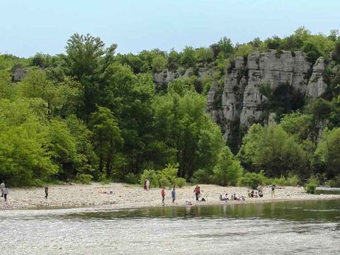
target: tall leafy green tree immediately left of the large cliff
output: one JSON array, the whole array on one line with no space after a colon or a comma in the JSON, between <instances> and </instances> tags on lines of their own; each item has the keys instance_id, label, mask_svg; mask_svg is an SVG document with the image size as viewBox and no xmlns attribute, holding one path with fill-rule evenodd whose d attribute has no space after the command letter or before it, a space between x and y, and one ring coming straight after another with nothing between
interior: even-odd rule
<instances>
[{"instance_id":1,"label":"tall leafy green tree immediately left of the large cliff","mask_svg":"<svg viewBox=\"0 0 340 255\"><path fill-rule=\"evenodd\" d=\"M171 84L168 94L154 102L154 130L157 130L154 138L164 141L162 148L168 152L165 163L178 162L179 176L191 179L198 169L215 165L222 136L220 128L205 114L205 98L188 89L193 84L187 86L186 82L179 80Z\"/></svg>"}]
</instances>

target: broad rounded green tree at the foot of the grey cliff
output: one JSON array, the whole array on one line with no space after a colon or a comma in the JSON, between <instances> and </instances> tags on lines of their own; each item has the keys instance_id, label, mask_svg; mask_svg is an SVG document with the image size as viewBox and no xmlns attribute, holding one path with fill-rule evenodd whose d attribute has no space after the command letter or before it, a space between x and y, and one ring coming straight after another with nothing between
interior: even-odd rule
<instances>
[{"instance_id":1,"label":"broad rounded green tree at the foot of the grey cliff","mask_svg":"<svg viewBox=\"0 0 340 255\"><path fill-rule=\"evenodd\" d=\"M280 125L263 128L254 124L244 136L238 157L255 171L264 169L269 177L293 172L307 174L307 157L293 135Z\"/></svg>"}]
</instances>

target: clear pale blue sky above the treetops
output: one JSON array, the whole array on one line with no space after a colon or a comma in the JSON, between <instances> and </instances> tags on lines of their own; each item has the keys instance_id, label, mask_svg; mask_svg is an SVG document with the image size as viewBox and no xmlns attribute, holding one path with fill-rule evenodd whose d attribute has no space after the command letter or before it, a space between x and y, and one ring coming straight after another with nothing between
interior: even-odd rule
<instances>
[{"instance_id":1,"label":"clear pale blue sky above the treetops","mask_svg":"<svg viewBox=\"0 0 340 255\"><path fill-rule=\"evenodd\" d=\"M98 35L118 52L248 42L340 29L339 0L0 0L0 52L64 52L73 33Z\"/></svg>"}]
</instances>

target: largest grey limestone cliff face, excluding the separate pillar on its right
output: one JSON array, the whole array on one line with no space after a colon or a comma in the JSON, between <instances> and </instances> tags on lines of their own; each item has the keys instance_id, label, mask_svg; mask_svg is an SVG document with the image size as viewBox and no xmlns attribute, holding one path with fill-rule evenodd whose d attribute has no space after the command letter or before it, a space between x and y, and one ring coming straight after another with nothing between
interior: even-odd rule
<instances>
[{"instance_id":1,"label":"largest grey limestone cliff face, excluding the separate pillar on its right","mask_svg":"<svg viewBox=\"0 0 340 255\"><path fill-rule=\"evenodd\" d=\"M309 76L310 63L302 52L278 53L273 50L237 57L225 77L222 108L212 107L211 98L220 93L212 87L208 95L208 112L215 120L222 120L223 137L230 140L240 127L248 128L251 123L261 120L266 101L266 96L261 94L263 85L270 86L273 91L281 84L288 84L305 94Z\"/></svg>"}]
</instances>

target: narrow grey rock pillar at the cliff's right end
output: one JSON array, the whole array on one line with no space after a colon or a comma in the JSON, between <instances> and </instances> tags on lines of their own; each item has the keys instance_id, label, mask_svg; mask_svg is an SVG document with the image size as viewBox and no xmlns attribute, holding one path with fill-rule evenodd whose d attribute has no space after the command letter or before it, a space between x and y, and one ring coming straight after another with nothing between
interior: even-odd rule
<instances>
[{"instance_id":1,"label":"narrow grey rock pillar at the cliff's right end","mask_svg":"<svg viewBox=\"0 0 340 255\"><path fill-rule=\"evenodd\" d=\"M324 74L324 58L319 57L313 66L312 76L307 85L307 97L317 98L327 90L322 74Z\"/></svg>"}]
</instances>

